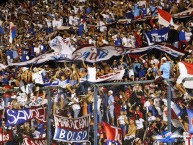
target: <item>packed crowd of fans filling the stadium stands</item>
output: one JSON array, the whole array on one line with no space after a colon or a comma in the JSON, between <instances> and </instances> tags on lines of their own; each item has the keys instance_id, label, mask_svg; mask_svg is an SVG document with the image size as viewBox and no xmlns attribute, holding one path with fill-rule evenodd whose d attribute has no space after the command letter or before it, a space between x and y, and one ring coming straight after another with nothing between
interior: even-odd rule
<instances>
[{"instance_id":1,"label":"packed crowd of fans filling the stadium stands","mask_svg":"<svg viewBox=\"0 0 193 145\"><path fill-rule=\"evenodd\" d=\"M0 63L8 67L0 70L0 125L4 130L14 131L14 140L7 144L19 144L22 135L32 138L46 136L46 123L33 119L25 124L6 127L4 109L23 109L48 103L48 94L41 88L57 83L60 88L52 90L52 113L66 117L91 116L90 142L93 144L94 90L87 81L88 65L82 61L45 62L12 66L51 52L49 41L55 36L68 38L74 48L83 44L104 44L141 48L148 46L144 33L163 28L157 21L157 9L176 14L193 7L191 0L8 0L0 5ZM149 16L149 17L148 17ZM144 20L145 17L148 17ZM179 25L170 26L167 44L184 52L174 58L166 53L148 52L139 57L122 55L97 62L97 76L125 69L122 82L155 80L146 84L113 85L98 88L98 143L106 140L102 122L122 128L122 140L112 144L153 144L154 136L168 129L167 82L173 78L172 101L182 110L179 117L188 130L186 108L191 106L192 90L184 89L178 77L179 61L193 63L193 21L188 18L174 19ZM121 21L120 19L131 20ZM16 38L9 41L10 22L16 29ZM68 26L67 30L60 30ZM52 122L54 124L54 120ZM54 126L53 126L54 128ZM175 128L175 127L173 127ZM53 133L52 133L53 135ZM59 141L53 141L65 144ZM182 143L178 141L178 144ZM77 144L78 143L71 143Z\"/></svg>"}]
</instances>

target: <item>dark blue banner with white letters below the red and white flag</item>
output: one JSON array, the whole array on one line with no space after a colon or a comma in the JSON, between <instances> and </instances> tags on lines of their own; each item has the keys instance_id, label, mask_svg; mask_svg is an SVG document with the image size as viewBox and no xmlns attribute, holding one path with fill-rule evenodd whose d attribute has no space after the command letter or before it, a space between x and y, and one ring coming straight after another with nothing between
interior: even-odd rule
<instances>
[{"instance_id":1,"label":"dark blue banner with white letters below the red and white flag","mask_svg":"<svg viewBox=\"0 0 193 145\"><path fill-rule=\"evenodd\" d=\"M148 45L155 43L165 42L168 39L169 27L165 27L159 30L152 30L145 34Z\"/></svg>"}]
</instances>

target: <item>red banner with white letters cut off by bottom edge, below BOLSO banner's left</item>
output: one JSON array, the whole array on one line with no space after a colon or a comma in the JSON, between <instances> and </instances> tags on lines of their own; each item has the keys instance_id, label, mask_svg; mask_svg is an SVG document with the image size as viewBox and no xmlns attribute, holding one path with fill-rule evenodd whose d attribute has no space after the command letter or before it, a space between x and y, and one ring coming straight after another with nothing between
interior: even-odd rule
<instances>
[{"instance_id":1,"label":"red banner with white letters cut off by bottom edge, below BOLSO banner's left","mask_svg":"<svg viewBox=\"0 0 193 145\"><path fill-rule=\"evenodd\" d=\"M38 138L38 139L32 139L32 138L23 138L22 145L47 145L47 139L46 138Z\"/></svg>"}]
</instances>

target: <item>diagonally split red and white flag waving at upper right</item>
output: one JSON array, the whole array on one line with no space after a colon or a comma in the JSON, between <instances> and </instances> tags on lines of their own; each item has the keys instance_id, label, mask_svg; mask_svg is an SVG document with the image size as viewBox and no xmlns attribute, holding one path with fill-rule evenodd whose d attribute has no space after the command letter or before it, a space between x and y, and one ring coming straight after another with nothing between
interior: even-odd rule
<instances>
[{"instance_id":1,"label":"diagonally split red and white flag waving at upper right","mask_svg":"<svg viewBox=\"0 0 193 145\"><path fill-rule=\"evenodd\" d=\"M158 8L158 23L168 27L169 25L172 25L175 27L175 29L178 28L177 25L174 24L172 15L162 9Z\"/></svg>"}]
</instances>

